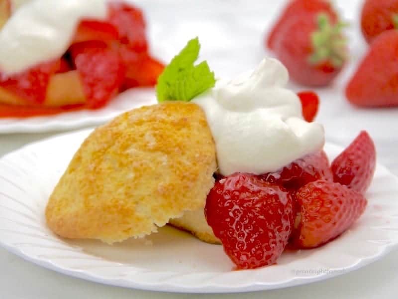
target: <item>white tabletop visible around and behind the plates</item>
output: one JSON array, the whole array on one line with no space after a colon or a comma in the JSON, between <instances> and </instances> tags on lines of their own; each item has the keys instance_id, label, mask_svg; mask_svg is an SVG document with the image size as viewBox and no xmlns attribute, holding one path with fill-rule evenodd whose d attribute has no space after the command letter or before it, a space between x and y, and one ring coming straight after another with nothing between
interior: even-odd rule
<instances>
[{"instance_id":1,"label":"white tabletop visible around and behind the plates","mask_svg":"<svg viewBox=\"0 0 398 299\"><path fill-rule=\"evenodd\" d=\"M141 0L151 24L150 39L168 60L185 42L199 35L202 57L218 76L232 76L255 66L265 52L262 38L285 1L264 0ZM318 90L322 98L318 121L330 142L347 145L360 130L373 136L379 162L398 175L396 134L398 109L360 110L347 104L341 89L366 50L355 19L360 0L335 0L351 22L352 63L333 88ZM295 90L300 89L292 84ZM48 134L0 135L0 156ZM1 186L0 186L1 188ZM70 278L33 264L0 249L0 298L4 299L131 299L131 298L397 298L398 251L353 273L295 288L235 295L186 295L145 292L102 286Z\"/></svg>"}]
</instances>

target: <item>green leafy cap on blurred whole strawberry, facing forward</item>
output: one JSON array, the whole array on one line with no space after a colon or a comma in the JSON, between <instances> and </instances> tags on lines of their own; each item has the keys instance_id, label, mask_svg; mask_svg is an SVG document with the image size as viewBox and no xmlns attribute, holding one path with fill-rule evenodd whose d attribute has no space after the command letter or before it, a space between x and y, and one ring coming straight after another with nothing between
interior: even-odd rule
<instances>
[{"instance_id":1,"label":"green leafy cap on blurred whole strawberry, facing forward","mask_svg":"<svg viewBox=\"0 0 398 299\"><path fill-rule=\"evenodd\" d=\"M311 64L329 61L334 67L341 67L347 60L347 40L342 29L347 24L337 22L331 24L325 13L317 15L317 30L311 34L313 53L309 57Z\"/></svg>"}]
</instances>

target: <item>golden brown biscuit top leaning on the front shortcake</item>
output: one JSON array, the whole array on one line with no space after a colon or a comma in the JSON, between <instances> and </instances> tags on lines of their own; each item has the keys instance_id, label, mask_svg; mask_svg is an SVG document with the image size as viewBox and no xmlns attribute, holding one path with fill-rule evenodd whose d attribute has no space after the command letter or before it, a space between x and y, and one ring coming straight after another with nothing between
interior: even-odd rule
<instances>
[{"instance_id":1,"label":"golden brown biscuit top leaning on the front shortcake","mask_svg":"<svg viewBox=\"0 0 398 299\"><path fill-rule=\"evenodd\" d=\"M196 104L124 113L82 144L50 196L46 220L65 238L142 237L204 207L215 146Z\"/></svg>"}]
</instances>

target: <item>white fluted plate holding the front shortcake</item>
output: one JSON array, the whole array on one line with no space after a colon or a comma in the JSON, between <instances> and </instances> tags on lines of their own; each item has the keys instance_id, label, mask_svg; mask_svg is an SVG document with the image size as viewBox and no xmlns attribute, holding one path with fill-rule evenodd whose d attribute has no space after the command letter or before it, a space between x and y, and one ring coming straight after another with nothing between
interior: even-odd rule
<instances>
[{"instance_id":1,"label":"white fluted plate holding the front shortcake","mask_svg":"<svg viewBox=\"0 0 398 299\"><path fill-rule=\"evenodd\" d=\"M284 288L345 274L398 245L398 178L378 165L363 217L318 249L285 252L278 265L232 271L222 247L170 227L143 240L108 246L68 241L45 225L44 208L58 178L90 131L29 145L0 159L0 243L10 252L66 275L127 288L230 293ZM341 149L328 144L334 157Z\"/></svg>"}]
</instances>

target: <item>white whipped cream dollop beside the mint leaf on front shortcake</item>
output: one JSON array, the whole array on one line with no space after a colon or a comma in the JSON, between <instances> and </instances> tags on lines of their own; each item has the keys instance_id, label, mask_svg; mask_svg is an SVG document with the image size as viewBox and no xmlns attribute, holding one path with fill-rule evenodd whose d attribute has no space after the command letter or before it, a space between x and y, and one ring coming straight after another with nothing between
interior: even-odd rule
<instances>
[{"instance_id":1,"label":"white whipped cream dollop beside the mint leaf on front shortcake","mask_svg":"<svg viewBox=\"0 0 398 299\"><path fill-rule=\"evenodd\" d=\"M205 112L222 175L276 171L322 149L323 126L303 120L288 80L285 66L266 58L253 72L219 80L193 100Z\"/></svg>"}]
</instances>

